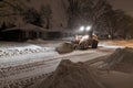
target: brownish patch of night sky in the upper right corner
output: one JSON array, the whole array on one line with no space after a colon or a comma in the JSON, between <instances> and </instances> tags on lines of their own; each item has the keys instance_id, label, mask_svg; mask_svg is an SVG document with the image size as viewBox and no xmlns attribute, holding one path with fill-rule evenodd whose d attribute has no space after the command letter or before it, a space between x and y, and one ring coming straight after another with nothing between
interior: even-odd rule
<instances>
[{"instance_id":1,"label":"brownish patch of night sky in the upper right corner","mask_svg":"<svg viewBox=\"0 0 133 88\"><path fill-rule=\"evenodd\" d=\"M133 16L133 0L110 0L115 9L122 9Z\"/></svg>"}]
</instances>

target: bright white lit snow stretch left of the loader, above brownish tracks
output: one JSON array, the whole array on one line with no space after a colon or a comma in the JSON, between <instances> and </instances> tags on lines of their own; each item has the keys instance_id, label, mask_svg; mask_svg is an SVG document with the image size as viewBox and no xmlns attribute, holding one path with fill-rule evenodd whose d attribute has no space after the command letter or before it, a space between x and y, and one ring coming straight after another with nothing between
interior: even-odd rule
<instances>
[{"instance_id":1,"label":"bright white lit snow stretch left of the loader, above brownish tracks","mask_svg":"<svg viewBox=\"0 0 133 88\"><path fill-rule=\"evenodd\" d=\"M30 43L0 43L0 68L38 62L58 55L54 46Z\"/></svg>"}]
</instances>

